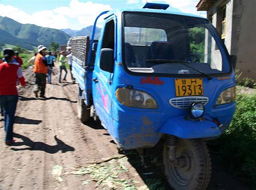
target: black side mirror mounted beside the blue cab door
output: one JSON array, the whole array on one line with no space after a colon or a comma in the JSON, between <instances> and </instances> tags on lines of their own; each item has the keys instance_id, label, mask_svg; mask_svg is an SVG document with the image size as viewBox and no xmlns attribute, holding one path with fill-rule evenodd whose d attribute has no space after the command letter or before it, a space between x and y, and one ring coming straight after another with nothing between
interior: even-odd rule
<instances>
[{"instance_id":1,"label":"black side mirror mounted beside the blue cab door","mask_svg":"<svg viewBox=\"0 0 256 190\"><path fill-rule=\"evenodd\" d=\"M103 48L100 50L100 62L99 67L103 71L113 72L114 66L114 50L109 48Z\"/></svg>"}]
</instances>

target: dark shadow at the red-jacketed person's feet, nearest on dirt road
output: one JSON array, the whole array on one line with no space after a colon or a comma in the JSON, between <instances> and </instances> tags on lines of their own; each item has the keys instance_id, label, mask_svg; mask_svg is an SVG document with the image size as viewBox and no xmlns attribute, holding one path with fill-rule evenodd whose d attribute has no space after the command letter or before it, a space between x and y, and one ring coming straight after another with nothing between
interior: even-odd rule
<instances>
[{"instance_id":1,"label":"dark shadow at the red-jacketed person's feet, nearest on dirt road","mask_svg":"<svg viewBox=\"0 0 256 190\"><path fill-rule=\"evenodd\" d=\"M54 153L57 153L60 150L61 150L62 153L66 153L68 151L74 151L75 150L75 148L65 144L63 141L58 139L56 137L56 135L55 135L54 139L57 142L57 144L54 145L54 146L45 144L44 142L34 142L30 138L25 137L25 136L20 135L20 134L17 134L17 133L14 133L13 136L16 137L16 138L21 138L23 140L23 142L16 142L16 143L11 144L11 146L15 146L15 147L23 146L23 145L28 146L26 148L11 148L12 150L15 150L15 151L19 151L19 150L41 150L41 151L44 151L44 152L49 153L49 154L54 154Z\"/></svg>"}]
</instances>

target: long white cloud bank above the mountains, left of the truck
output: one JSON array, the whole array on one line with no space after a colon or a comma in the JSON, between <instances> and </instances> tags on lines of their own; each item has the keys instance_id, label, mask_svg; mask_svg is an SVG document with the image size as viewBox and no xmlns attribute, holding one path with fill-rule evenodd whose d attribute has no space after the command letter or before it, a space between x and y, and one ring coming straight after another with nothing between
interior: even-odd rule
<instances>
[{"instance_id":1,"label":"long white cloud bank above the mountains, left of the truck","mask_svg":"<svg viewBox=\"0 0 256 190\"><path fill-rule=\"evenodd\" d=\"M0 15L9 17L17 22L26 24L35 24L38 26L49 27L54 29L69 28L69 18L78 20L80 27L84 28L93 25L95 18L103 11L112 10L110 5L93 3L91 1L79 2L71 0L69 6L57 7L53 10L42 10L33 14L27 14L21 9L0 4ZM99 19L97 26L101 27L103 18Z\"/></svg>"}]
</instances>

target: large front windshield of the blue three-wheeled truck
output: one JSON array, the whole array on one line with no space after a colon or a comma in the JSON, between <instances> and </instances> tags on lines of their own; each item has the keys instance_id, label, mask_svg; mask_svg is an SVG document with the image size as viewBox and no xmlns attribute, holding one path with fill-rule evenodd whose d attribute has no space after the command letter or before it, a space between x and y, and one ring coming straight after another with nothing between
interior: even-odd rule
<instances>
[{"instance_id":1,"label":"large front windshield of the blue three-wheeled truck","mask_svg":"<svg viewBox=\"0 0 256 190\"><path fill-rule=\"evenodd\" d=\"M218 74L230 72L212 25L174 14L124 13L125 65L132 72Z\"/></svg>"}]
</instances>

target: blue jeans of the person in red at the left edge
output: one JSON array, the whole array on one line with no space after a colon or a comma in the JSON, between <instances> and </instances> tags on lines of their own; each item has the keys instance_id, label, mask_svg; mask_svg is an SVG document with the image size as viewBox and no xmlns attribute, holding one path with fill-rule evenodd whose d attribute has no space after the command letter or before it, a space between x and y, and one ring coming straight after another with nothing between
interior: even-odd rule
<instances>
[{"instance_id":1,"label":"blue jeans of the person in red at the left edge","mask_svg":"<svg viewBox=\"0 0 256 190\"><path fill-rule=\"evenodd\" d=\"M12 141L12 130L14 115L16 111L17 95L0 95L1 107L3 107L4 130L6 132L6 141Z\"/></svg>"}]
</instances>

